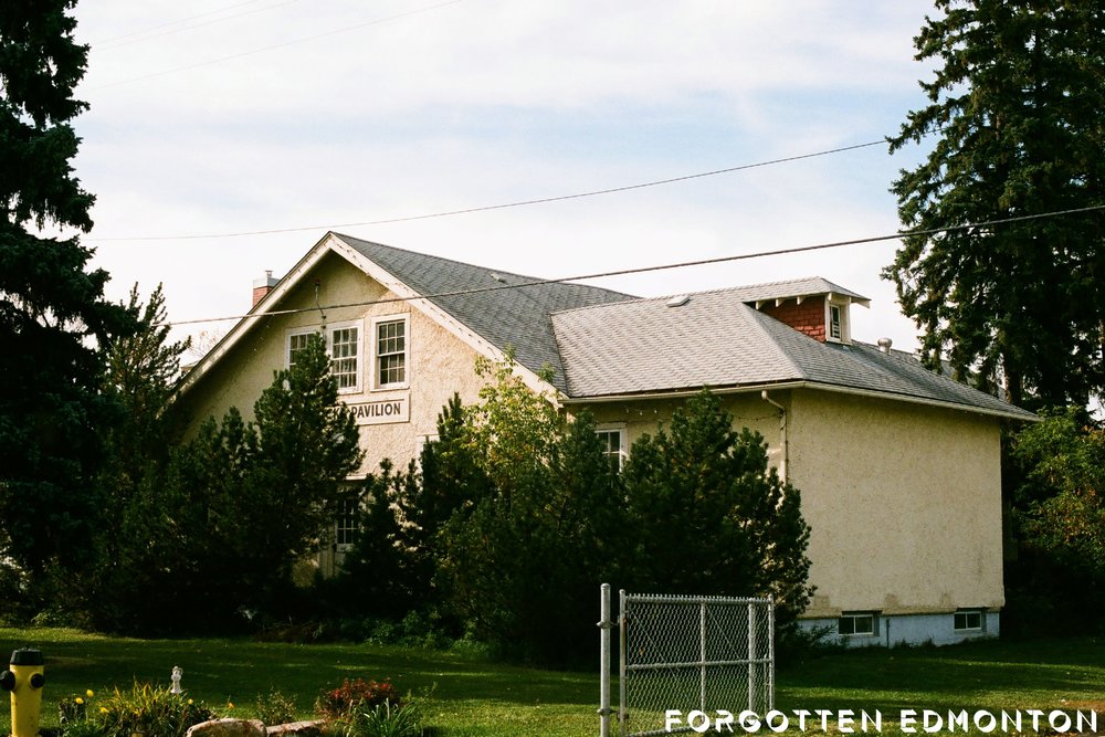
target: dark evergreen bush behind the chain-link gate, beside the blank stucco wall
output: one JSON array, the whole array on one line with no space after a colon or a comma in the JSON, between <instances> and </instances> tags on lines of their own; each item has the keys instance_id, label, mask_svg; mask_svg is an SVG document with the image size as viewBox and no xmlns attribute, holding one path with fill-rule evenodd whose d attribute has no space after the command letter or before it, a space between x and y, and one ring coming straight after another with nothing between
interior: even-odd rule
<instances>
[{"instance_id":1,"label":"dark evergreen bush behind the chain-link gate, beside the blank stucco wall","mask_svg":"<svg viewBox=\"0 0 1105 737\"><path fill-rule=\"evenodd\" d=\"M810 528L801 495L769 468L764 439L733 430L707 391L633 443L623 473L640 591L764 597L786 631L806 609Z\"/></svg>"}]
</instances>

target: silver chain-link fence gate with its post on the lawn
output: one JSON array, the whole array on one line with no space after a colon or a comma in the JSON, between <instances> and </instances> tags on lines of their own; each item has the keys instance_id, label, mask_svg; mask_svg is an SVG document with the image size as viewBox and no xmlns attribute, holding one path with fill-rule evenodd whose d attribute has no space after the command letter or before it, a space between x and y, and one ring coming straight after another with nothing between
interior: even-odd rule
<instances>
[{"instance_id":1,"label":"silver chain-link fence gate with its post on the lawn","mask_svg":"<svg viewBox=\"0 0 1105 737\"><path fill-rule=\"evenodd\" d=\"M775 608L770 599L620 592L610 621L602 587L601 737L609 735L610 630L620 631L618 723L622 737L691 731L693 710L766 714L775 706ZM665 712L682 713L677 724ZM697 725L701 730L701 723ZM737 729L737 724L734 724ZM669 728L670 727L670 728Z\"/></svg>"}]
</instances>

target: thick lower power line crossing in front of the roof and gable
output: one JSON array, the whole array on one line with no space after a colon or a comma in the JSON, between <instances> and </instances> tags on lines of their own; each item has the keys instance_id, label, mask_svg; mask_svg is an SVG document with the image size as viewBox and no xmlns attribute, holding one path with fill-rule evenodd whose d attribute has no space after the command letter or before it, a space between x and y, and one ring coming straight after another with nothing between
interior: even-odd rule
<instances>
[{"instance_id":1,"label":"thick lower power line crossing in front of the roof and gable","mask_svg":"<svg viewBox=\"0 0 1105 737\"><path fill-rule=\"evenodd\" d=\"M1042 212L1039 214L1031 215L1017 215L1013 218L1001 218L997 220L987 220L981 222L964 223L961 225L948 225L945 228L928 228L923 230L911 230L911 231L898 231L896 233L891 233L887 235L873 235L870 238L859 238L848 241L832 241L829 243L818 243L815 245L801 245L790 249L776 249L774 251L757 251L755 253L739 253L729 256L716 256L714 259L699 259L696 261L680 261L670 264L660 264L654 266L636 266L634 269L619 269L617 271L599 272L592 274L582 274L577 276L562 276L560 278L539 278L530 280L527 282L520 282L518 284L495 284L492 286L475 287L471 289L457 289L454 292L438 292L434 294L421 294L417 297L388 297L386 299L367 299L364 302L347 302L341 304L333 305L315 305L313 307L298 307L295 309L273 309L260 315L229 315L227 317L209 317L203 319L190 319L190 320L175 320L165 323L170 327L179 327L181 325L198 325L201 323L222 323L228 320L240 320L246 317L276 317L280 315L296 315L299 313L313 313L316 310L327 310L327 309L340 309L343 307L368 307L370 305L382 305L392 304L397 302L415 302L418 299L435 299L441 297L457 297L472 294L483 294L487 292L501 292L503 289L522 289L528 286L540 286L544 284L562 284L565 282L587 282L596 278L606 278L610 276L627 276L630 274L644 274L649 272L657 271L671 271L674 269L687 269L691 266L706 266L711 264L729 263L733 261L747 261L749 259L762 259L766 256L780 256L789 255L794 253L809 253L811 251L823 251L825 249L839 249L846 245L864 245L867 243L878 243L882 241L896 241L903 238L912 238L916 235L935 235L937 233L949 233L959 230L971 230L976 228L992 228L993 225L1003 225L1015 222L1024 222L1028 220L1041 220L1045 218L1060 218L1064 215L1082 214L1086 212L1096 212L1105 210L1105 204L1095 204L1087 208L1076 208L1072 210L1057 210L1053 212Z\"/></svg>"}]
</instances>

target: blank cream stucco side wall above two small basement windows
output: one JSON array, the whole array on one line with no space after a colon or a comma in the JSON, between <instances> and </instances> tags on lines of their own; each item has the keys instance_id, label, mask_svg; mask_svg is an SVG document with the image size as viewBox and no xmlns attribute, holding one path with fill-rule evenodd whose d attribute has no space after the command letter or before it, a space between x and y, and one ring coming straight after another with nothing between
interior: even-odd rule
<instances>
[{"instance_id":1,"label":"blank cream stucco side wall above two small basement windows","mask_svg":"<svg viewBox=\"0 0 1105 737\"><path fill-rule=\"evenodd\" d=\"M818 588L807 617L1004 603L997 420L812 390L791 407Z\"/></svg>"}]
</instances>

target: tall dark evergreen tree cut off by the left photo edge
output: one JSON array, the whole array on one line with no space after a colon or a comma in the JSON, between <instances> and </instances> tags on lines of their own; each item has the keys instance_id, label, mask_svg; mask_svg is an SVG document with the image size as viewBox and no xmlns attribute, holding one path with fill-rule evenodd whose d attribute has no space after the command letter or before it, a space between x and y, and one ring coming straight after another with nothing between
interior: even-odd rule
<instances>
[{"instance_id":1,"label":"tall dark evergreen tree cut off by the left photo edge","mask_svg":"<svg viewBox=\"0 0 1105 737\"><path fill-rule=\"evenodd\" d=\"M76 235L92 228L93 197L70 161L70 122L87 48L73 40L73 0L0 3L0 541L32 575L75 565L91 545L92 480L105 422L97 346L126 329L88 271Z\"/></svg>"}]
</instances>

